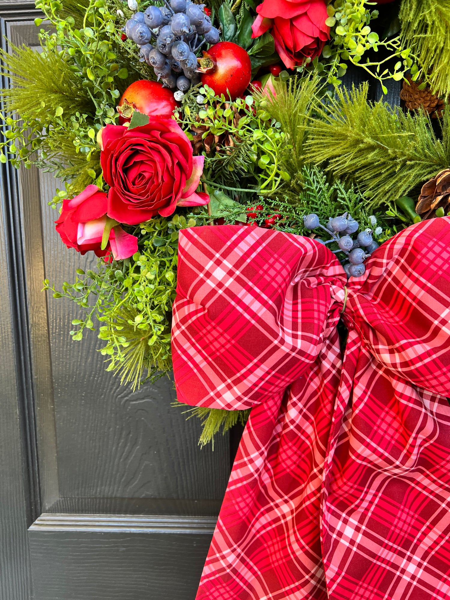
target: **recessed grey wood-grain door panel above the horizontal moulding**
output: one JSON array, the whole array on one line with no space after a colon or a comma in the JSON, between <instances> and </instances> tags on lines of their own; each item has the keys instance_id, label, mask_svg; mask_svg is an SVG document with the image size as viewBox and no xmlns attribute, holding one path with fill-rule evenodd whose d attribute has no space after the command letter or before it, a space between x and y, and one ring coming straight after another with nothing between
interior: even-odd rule
<instances>
[{"instance_id":1,"label":"recessed grey wood-grain door panel above the horizontal moulding","mask_svg":"<svg viewBox=\"0 0 450 600\"><path fill-rule=\"evenodd\" d=\"M56 234L51 174L40 178L46 277L61 286L95 257L67 250ZM55 392L59 490L62 497L221 500L229 476L228 437L214 452L197 445L197 419L186 421L164 378L131 392L104 371L101 342L87 332L82 343L68 335L77 307L49 299L49 335ZM106 505L104 512L110 512Z\"/></svg>"}]
</instances>

